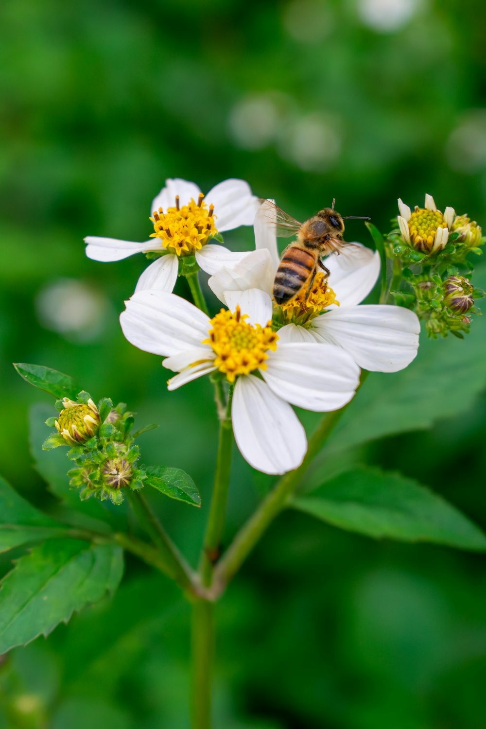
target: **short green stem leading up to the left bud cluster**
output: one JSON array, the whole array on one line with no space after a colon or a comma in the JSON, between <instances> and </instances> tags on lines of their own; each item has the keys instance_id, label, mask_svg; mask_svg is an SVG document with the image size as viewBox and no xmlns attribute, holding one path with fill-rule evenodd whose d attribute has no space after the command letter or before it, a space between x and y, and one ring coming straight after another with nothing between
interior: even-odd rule
<instances>
[{"instance_id":1,"label":"short green stem leading up to the left bud cluster","mask_svg":"<svg viewBox=\"0 0 486 729\"><path fill-rule=\"evenodd\" d=\"M173 544L162 524L152 512L145 496L141 494L141 491L135 491L129 494L128 499L138 522L157 547L160 563L165 565L165 569L162 571L168 577L176 580L189 596L197 594L195 575L192 574L192 570L184 561L176 545ZM119 539L119 535L117 535L117 538Z\"/></svg>"}]
</instances>

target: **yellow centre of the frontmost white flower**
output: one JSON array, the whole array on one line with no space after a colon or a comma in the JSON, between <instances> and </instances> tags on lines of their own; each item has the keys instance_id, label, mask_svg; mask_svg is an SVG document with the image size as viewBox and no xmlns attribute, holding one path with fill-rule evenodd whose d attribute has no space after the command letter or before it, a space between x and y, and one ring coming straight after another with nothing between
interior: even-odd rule
<instances>
[{"instance_id":1,"label":"yellow centre of the frontmost white flower","mask_svg":"<svg viewBox=\"0 0 486 729\"><path fill-rule=\"evenodd\" d=\"M248 324L246 314L241 315L240 307L236 311L225 311L211 319L213 328L209 332L209 339L203 344L211 344L216 359L214 364L224 373L230 382L235 381L236 375L249 375L253 370L265 370L268 359L267 351L275 351L278 335L270 327L260 324Z\"/></svg>"}]
</instances>

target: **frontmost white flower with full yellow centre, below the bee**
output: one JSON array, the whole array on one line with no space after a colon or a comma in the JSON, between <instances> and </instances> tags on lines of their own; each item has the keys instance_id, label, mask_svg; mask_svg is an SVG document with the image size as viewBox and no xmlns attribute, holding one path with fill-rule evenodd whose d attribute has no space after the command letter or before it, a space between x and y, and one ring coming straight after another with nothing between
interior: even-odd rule
<instances>
[{"instance_id":1,"label":"frontmost white flower with full yellow centre, below the bee","mask_svg":"<svg viewBox=\"0 0 486 729\"><path fill-rule=\"evenodd\" d=\"M227 292L228 309L213 319L176 295L135 293L120 316L130 343L165 356L179 374L173 390L216 370L235 383L232 426L251 466L270 474L297 468L305 430L291 405L324 412L342 408L358 386L359 368L342 348L288 342L271 327L270 296L259 289Z\"/></svg>"}]
</instances>

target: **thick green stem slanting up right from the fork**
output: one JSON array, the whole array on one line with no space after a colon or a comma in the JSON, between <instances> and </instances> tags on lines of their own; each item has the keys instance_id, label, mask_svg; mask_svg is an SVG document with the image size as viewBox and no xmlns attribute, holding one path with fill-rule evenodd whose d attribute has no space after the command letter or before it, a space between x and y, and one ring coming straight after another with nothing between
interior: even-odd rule
<instances>
[{"instance_id":1,"label":"thick green stem slanting up right from the fork","mask_svg":"<svg viewBox=\"0 0 486 729\"><path fill-rule=\"evenodd\" d=\"M361 373L361 384L367 378L367 375L368 373L366 371ZM307 445L307 453L302 464L278 480L273 491L270 491L270 494L265 497L254 514L242 526L235 539L233 539L232 544L228 547L216 566L213 575L213 588L211 590L214 598L222 593L227 583L238 572L240 566L251 553L256 543L259 542L264 532L267 531L275 517L286 507L291 495L296 491L297 486L299 486L302 477L305 475L314 457L321 450L324 443L326 443L326 440L340 420L342 413L348 408L348 405L345 405L341 410L334 410L332 413L327 413L324 416L310 437Z\"/></svg>"}]
</instances>

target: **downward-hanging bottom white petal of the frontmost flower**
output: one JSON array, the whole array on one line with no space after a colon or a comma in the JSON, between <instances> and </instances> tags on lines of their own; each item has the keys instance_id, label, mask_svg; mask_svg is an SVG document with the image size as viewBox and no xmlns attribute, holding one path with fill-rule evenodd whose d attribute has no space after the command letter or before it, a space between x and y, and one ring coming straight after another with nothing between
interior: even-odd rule
<instances>
[{"instance_id":1,"label":"downward-hanging bottom white petal of the frontmost flower","mask_svg":"<svg viewBox=\"0 0 486 729\"><path fill-rule=\"evenodd\" d=\"M307 439L294 410L254 375L239 377L232 401L236 445L254 468L281 474L297 468Z\"/></svg>"}]
</instances>

